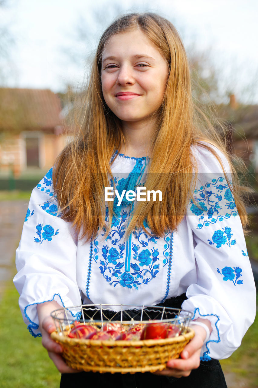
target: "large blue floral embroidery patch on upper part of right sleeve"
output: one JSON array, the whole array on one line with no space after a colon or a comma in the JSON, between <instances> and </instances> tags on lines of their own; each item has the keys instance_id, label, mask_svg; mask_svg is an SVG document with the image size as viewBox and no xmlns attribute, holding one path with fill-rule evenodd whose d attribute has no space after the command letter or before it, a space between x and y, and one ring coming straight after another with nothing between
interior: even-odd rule
<instances>
[{"instance_id":1,"label":"large blue floral embroidery patch on upper part of right sleeve","mask_svg":"<svg viewBox=\"0 0 258 388\"><path fill-rule=\"evenodd\" d=\"M197 229L237 216L236 204L227 181L223 177L212 179L194 191L196 204L191 200L191 212L200 216Z\"/></svg>"}]
</instances>

